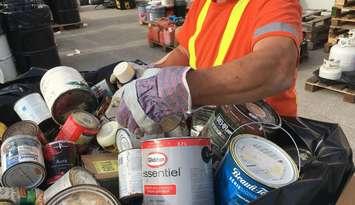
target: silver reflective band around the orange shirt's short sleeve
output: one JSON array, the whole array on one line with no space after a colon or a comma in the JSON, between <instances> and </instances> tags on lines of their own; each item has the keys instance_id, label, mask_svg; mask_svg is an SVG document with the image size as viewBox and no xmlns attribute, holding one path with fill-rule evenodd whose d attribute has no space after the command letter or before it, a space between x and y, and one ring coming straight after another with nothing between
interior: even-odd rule
<instances>
[{"instance_id":1,"label":"silver reflective band around the orange shirt's short sleeve","mask_svg":"<svg viewBox=\"0 0 355 205\"><path fill-rule=\"evenodd\" d=\"M290 24L280 22L266 24L265 26L256 29L254 32L254 38L270 32L288 32L294 35L297 39L300 39L300 36L294 27Z\"/></svg>"}]
</instances>

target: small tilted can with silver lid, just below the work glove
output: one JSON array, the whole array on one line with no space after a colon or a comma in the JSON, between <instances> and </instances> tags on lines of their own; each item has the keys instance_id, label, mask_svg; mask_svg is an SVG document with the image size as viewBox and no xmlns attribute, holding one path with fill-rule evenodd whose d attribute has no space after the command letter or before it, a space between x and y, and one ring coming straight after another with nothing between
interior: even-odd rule
<instances>
[{"instance_id":1,"label":"small tilted can with silver lid, just below the work glove","mask_svg":"<svg viewBox=\"0 0 355 205\"><path fill-rule=\"evenodd\" d=\"M118 153L140 148L139 140L126 128L120 128L117 130L116 144Z\"/></svg>"}]
</instances>

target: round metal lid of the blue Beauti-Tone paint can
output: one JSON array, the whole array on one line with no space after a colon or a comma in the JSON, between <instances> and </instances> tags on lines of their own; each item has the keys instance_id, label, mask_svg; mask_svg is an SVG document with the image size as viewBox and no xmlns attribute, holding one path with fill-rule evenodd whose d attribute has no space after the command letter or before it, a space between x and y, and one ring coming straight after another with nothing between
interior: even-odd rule
<instances>
[{"instance_id":1,"label":"round metal lid of the blue Beauti-Tone paint can","mask_svg":"<svg viewBox=\"0 0 355 205\"><path fill-rule=\"evenodd\" d=\"M268 187L279 188L299 177L292 158L265 138L238 135L233 138L229 149L233 159L247 175Z\"/></svg>"}]
</instances>

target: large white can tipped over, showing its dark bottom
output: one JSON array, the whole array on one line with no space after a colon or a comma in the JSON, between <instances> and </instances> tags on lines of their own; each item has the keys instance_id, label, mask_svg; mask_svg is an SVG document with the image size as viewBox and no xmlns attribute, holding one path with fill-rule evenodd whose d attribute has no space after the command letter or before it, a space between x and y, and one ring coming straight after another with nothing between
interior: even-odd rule
<instances>
[{"instance_id":1,"label":"large white can tipped over, showing its dark bottom","mask_svg":"<svg viewBox=\"0 0 355 205\"><path fill-rule=\"evenodd\" d=\"M74 68L58 66L48 70L41 79L40 88L58 124L63 124L74 110L94 112L97 107L90 87Z\"/></svg>"}]
</instances>

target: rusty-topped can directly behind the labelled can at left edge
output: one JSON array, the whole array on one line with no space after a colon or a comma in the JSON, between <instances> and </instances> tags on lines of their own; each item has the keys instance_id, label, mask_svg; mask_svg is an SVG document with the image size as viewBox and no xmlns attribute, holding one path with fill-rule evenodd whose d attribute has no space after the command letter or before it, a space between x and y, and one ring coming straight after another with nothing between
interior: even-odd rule
<instances>
[{"instance_id":1,"label":"rusty-topped can directly behind the labelled can at left edge","mask_svg":"<svg viewBox=\"0 0 355 205\"><path fill-rule=\"evenodd\" d=\"M39 129L39 127L33 121L24 120L24 121L16 122L15 124L11 125L9 128L7 128L6 132L4 133L3 141L6 140L7 138L16 135L34 136L37 137L37 139L41 142L42 145L48 143L41 129Z\"/></svg>"}]
</instances>

